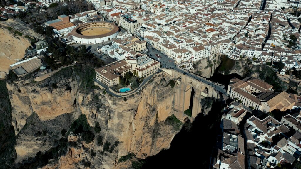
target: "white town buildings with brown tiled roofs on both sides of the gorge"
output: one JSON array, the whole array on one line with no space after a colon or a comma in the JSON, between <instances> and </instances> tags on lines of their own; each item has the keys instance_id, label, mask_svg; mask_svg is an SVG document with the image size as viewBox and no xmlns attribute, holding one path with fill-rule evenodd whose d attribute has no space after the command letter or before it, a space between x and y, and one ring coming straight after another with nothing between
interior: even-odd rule
<instances>
[{"instance_id":1,"label":"white town buildings with brown tiled roofs on both sides of the gorge","mask_svg":"<svg viewBox=\"0 0 301 169\"><path fill-rule=\"evenodd\" d=\"M32 3L41 7L53 2L58 0L26 1L24 6L10 5L0 8L0 17L7 19L9 15L17 15L18 11L26 11L26 5ZM54 36L67 45L78 43L70 36L72 29L78 25L107 21L119 26L122 31L116 38L108 39L111 44L97 48L98 52L117 60L95 69L97 82L105 87L123 83L129 88L130 84L121 77L130 76L129 79L137 83L136 79L140 81L160 71L160 57L157 56L159 61L148 57L147 47L160 51L174 60L177 66L187 70L194 69L193 63L204 58L210 62L217 55L233 60L249 59L256 65L283 63L283 69L277 71L284 79L292 79L286 75L290 69L301 69L299 1L87 2L95 10L60 15L43 26L54 27ZM37 44L36 51L46 50L46 46ZM272 85L250 77L231 79L227 94L224 93L225 100L231 98L232 102L222 116L217 151L210 161L212 168L275 168L300 161L300 114L290 113L276 118L272 113L275 110L284 112L301 108L300 97L285 91L274 91ZM252 111L261 112L265 117L259 118Z\"/></svg>"}]
</instances>

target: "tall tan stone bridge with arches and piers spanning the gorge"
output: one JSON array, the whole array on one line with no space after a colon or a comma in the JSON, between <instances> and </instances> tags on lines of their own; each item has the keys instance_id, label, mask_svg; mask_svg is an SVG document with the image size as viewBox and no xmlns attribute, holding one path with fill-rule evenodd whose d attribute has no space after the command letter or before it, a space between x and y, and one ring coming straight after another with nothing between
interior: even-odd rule
<instances>
[{"instance_id":1,"label":"tall tan stone bridge with arches and piers spanning the gorge","mask_svg":"<svg viewBox=\"0 0 301 169\"><path fill-rule=\"evenodd\" d=\"M195 78L188 75L184 75L173 69L162 69L167 74L171 75L176 81L175 93L173 98L173 106L176 110L174 115L179 120L184 120L185 118L194 121L197 114L202 112L201 99L204 97L215 97L219 98L219 94L214 90L208 83L203 83ZM194 93L194 94L193 94ZM191 96L193 94L193 96ZM191 106L191 99L193 99ZM190 107L191 106L191 107ZM189 117L184 114L184 111L192 108L192 115Z\"/></svg>"}]
</instances>

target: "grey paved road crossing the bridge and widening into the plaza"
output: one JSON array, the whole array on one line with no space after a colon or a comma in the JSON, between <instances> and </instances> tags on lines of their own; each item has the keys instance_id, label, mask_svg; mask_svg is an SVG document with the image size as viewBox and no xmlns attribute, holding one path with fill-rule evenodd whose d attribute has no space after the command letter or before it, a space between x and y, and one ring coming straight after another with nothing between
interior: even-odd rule
<instances>
[{"instance_id":1,"label":"grey paved road crossing the bridge and widening into the plaza","mask_svg":"<svg viewBox=\"0 0 301 169\"><path fill-rule=\"evenodd\" d=\"M182 69L178 66L175 65L174 60L167 57L166 55L164 55L163 53L161 53L160 51L153 49L151 46L148 46L148 56L150 56L151 58L160 61L162 68L167 68L167 69L174 69L178 72L181 72L185 75L188 75L189 77L195 78L198 81L201 81L205 84L209 84L210 86L212 86L213 88L215 88L216 91L221 92L222 94L227 94L226 90L225 90L225 86L223 84L218 84L215 83L213 81L208 80L207 78L204 78L202 76L196 75L192 72L189 72L185 69ZM158 58L155 54L159 54L161 58Z\"/></svg>"}]
</instances>

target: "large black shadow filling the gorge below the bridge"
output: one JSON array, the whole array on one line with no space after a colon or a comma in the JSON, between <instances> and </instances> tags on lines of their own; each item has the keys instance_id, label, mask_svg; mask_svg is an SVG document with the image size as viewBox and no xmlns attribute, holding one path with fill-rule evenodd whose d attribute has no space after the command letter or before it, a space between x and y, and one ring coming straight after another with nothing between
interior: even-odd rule
<instances>
[{"instance_id":1,"label":"large black shadow filling the gorge below the bridge","mask_svg":"<svg viewBox=\"0 0 301 169\"><path fill-rule=\"evenodd\" d=\"M145 159L142 168L209 168L221 121L222 103L214 102L208 115L186 121L171 146Z\"/></svg>"}]
</instances>

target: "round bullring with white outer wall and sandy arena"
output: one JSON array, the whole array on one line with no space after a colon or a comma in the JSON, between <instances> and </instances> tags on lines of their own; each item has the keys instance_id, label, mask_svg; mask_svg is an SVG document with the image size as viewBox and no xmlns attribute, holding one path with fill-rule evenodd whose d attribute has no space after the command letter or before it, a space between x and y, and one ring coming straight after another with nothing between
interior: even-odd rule
<instances>
[{"instance_id":1,"label":"round bullring with white outer wall and sandy arena","mask_svg":"<svg viewBox=\"0 0 301 169\"><path fill-rule=\"evenodd\" d=\"M77 26L71 31L73 41L82 44L96 44L116 38L119 27L107 22L91 22Z\"/></svg>"}]
</instances>

